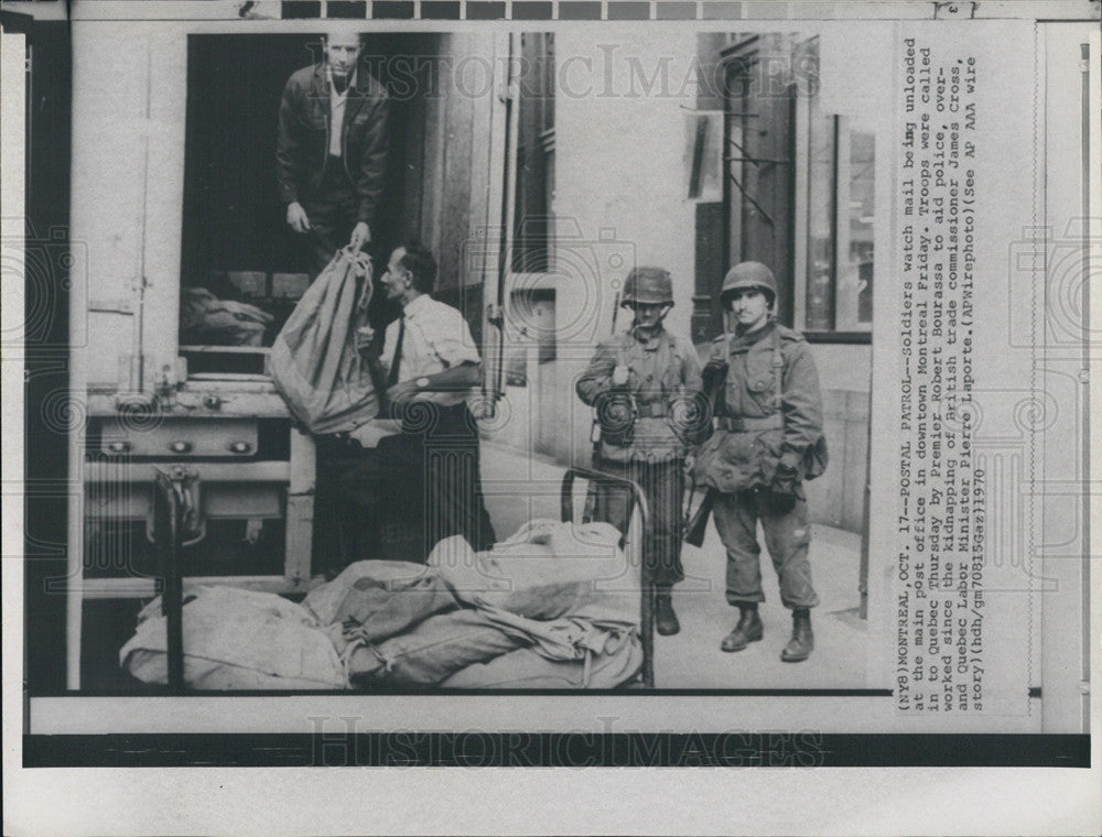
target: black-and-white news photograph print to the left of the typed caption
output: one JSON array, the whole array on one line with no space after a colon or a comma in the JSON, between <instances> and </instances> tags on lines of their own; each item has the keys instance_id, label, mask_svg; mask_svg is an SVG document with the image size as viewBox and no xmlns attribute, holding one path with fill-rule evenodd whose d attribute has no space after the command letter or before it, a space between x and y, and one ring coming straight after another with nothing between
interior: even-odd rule
<instances>
[{"instance_id":1,"label":"black-and-white news photograph print to the left of the typed caption","mask_svg":"<svg viewBox=\"0 0 1102 837\"><path fill-rule=\"evenodd\" d=\"M32 657L82 694L864 688L877 127L824 110L821 39L342 23L74 44L72 220L132 238ZM131 96L155 128L78 144Z\"/></svg>"}]
</instances>

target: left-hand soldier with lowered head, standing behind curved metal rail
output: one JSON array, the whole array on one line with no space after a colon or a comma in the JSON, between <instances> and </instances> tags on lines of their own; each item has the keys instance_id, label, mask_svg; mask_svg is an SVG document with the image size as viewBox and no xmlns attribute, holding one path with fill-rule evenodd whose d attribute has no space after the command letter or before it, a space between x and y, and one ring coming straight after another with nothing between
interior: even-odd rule
<instances>
[{"instance_id":1,"label":"left-hand soldier with lowered head, standing behind curved metal rail","mask_svg":"<svg viewBox=\"0 0 1102 837\"><path fill-rule=\"evenodd\" d=\"M627 278L623 305L634 314L630 329L602 343L577 380L579 398L596 410L602 426L594 467L639 483L650 508L644 563L657 590L655 623L663 635L680 630L671 588L681 568L681 501L684 492L687 425L701 390L700 360L689 339L663 326L673 307L670 274L636 268ZM605 488L593 517L627 525L628 498Z\"/></svg>"}]
</instances>

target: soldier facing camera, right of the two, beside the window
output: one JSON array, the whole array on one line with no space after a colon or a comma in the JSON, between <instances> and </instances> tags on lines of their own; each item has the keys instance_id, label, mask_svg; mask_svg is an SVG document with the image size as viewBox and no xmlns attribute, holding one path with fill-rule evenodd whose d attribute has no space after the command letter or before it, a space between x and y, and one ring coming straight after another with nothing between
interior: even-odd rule
<instances>
[{"instance_id":1,"label":"soldier facing camera, right of the two, beside the window","mask_svg":"<svg viewBox=\"0 0 1102 837\"><path fill-rule=\"evenodd\" d=\"M704 367L715 381L717 428L698 452L692 472L719 492L715 526L727 552L727 601L739 609L724 651L761 639L758 602L765 601L757 524L792 611L792 634L780 659L807 660L814 648L811 608L819 604L808 562L810 531L803 480L825 467L819 376L803 337L780 325L777 283L759 262L742 262L723 280L720 303L734 317L716 338ZM711 385L709 387L711 389Z\"/></svg>"}]
</instances>

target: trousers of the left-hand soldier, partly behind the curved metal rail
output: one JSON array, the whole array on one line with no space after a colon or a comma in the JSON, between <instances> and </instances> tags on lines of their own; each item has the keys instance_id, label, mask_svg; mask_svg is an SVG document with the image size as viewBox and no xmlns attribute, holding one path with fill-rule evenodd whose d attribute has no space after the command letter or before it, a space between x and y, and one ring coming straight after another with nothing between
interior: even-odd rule
<instances>
[{"instance_id":1,"label":"trousers of the left-hand soldier, partly behind the curved metal rail","mask_svg":"<svg viewBox=\"0 0 1102 837\"><path fill-rule=\"evenodd\" d=\"M642 563L658 588L669 588L684 578L681 568L683 523L681 503L684 500L684 461L618 463L595 458L593 467L612 477L637 482L647 498L650 519L642 537ZM591 494L590 519L612 523L626 533L629 494L619 486L598 486Z\"/></svg>"}]
</instances>

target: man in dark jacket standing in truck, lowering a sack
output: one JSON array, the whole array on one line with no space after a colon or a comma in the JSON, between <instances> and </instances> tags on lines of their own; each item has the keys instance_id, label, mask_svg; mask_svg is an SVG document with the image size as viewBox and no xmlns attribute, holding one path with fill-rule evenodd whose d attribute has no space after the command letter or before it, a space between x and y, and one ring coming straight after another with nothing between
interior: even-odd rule
<instances>
[{"instance_id":1,"label":"man in dark jacket standing in truck, lowering a sack","mask_svg":"<svg viewBox=\"0 0 1102 837\"><path fill-rule=\"evenodd\" d=\"M288 226L309 236L316 275L338 248L371 240L389 149L387 94L360 66L359 35L331 32L321 64L288 79L276 171Z\"/></svg>"}]
</instances>

